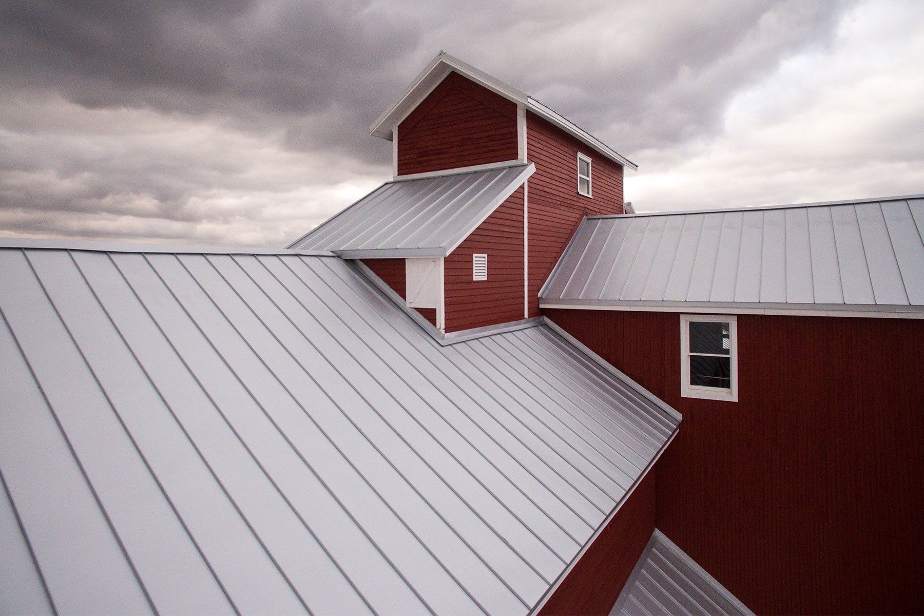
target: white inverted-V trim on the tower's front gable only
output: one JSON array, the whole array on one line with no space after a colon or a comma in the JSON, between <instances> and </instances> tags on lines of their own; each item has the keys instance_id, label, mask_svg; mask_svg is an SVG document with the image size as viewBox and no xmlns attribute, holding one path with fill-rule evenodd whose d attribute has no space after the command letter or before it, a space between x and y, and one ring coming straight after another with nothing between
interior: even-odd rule
<instances>
[{"instance_id":1,"label":"white inverted-V trim on the tower's front gable only","mask_svg":"<svg viewBox=\"0 0 924 616\"><path fill-rule=\"evenodd\" d=\"M411 85L408 86L397 103L393 104L388 111L380 115L372 123L369 133L373 137L391 140L392 127L400 124L401 120L407 117L407 114L413 111L423 99L427 98L430 92L454 70L456 73L516 103L525 104L529 98L526 92L519 91L500 79L495 79L484 71L441 51L431 60L430 64L420 71L417 78L411 82Z\"/></svg>"}]
</instances>

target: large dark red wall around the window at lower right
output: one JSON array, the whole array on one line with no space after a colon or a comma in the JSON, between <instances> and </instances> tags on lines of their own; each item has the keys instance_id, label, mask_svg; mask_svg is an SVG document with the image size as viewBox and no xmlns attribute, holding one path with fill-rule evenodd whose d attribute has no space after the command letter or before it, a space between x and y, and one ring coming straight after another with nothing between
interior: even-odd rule
<instances>
[{"instance_id":1,"label":"large dark red wall around the window at lower right","mask_svg":"<svg viewBox=\"0 0 924 616\"><path fill-rule=\"evenodd\" d=\"M683 414L657 526L748 608L924 611L924 320L739 315L729 403L680 397L676 313L544 312Z\"/></svg>"}]
</instances>

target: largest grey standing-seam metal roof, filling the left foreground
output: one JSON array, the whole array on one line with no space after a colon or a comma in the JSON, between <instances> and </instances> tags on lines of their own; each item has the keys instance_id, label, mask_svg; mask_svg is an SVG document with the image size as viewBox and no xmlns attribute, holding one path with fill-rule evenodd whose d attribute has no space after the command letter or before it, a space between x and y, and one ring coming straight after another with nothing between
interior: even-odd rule
<instances>
[{"instance_id":1,"label":"largest grey standing-seam metal roof, filling the left foreground","mask_svg":"<svg viewBox=\"0 0 924 616\"><path fill-rule=\"evenodd\" d=\"M526 614L678 423L547 325L439 344L335 257L17 246L4 610Z\"/></svg>"}]
</instances>

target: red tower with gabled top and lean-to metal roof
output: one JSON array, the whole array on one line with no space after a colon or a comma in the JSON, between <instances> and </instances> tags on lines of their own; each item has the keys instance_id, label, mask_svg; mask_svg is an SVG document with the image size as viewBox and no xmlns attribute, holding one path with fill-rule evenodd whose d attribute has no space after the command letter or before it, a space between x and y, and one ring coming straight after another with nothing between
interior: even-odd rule
<instances>
[{"instance_id":1,"label":"red tower with gabled top and lean-to metal roof","mask_svg":"<svg viewBox=\"0 0 924 616\"><path fill-rule=\"evenodd\" d=\"M635 163L527 93L440 52L371 126L393 179L291 248L359 260L440 332L539 316L588 215L623 211Z\"/></svg>"}]
</instances>

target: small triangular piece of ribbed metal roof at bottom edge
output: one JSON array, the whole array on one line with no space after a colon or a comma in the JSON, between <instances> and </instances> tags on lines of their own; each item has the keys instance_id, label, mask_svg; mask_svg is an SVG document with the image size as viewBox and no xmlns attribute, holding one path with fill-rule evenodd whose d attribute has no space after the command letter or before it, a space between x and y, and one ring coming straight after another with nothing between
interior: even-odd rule
<instances>
[{"instance_id":1,"label":"small triangular piece of ribbed metal roof at bottom edge","mask_svg":"<svg viewBox=\"0 0 924 616\"><path fill-rule=\"evenodd\" d=\"M753 613L655 529L610 616L753 616Z\"/></svg>"}]
</instances>

